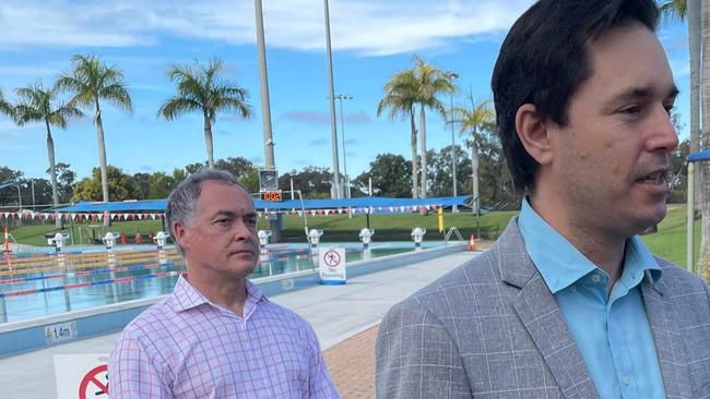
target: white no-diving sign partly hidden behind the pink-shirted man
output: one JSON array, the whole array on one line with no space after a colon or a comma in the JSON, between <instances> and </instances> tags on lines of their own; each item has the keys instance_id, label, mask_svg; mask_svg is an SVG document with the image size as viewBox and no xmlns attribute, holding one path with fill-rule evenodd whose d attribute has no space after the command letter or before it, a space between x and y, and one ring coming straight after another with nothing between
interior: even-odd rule
<instances>
[{"instance_id":1,"label":"white no-diving sign partly hidden behind the pink-shirted man","mask_svg":"<svg viewBox=\"0 0 710 399\"><path fill-rule=\"evenodd\" d=\"M55 354L58 399L108 398L106 354Z\"/></svg>"}]
</instances>

